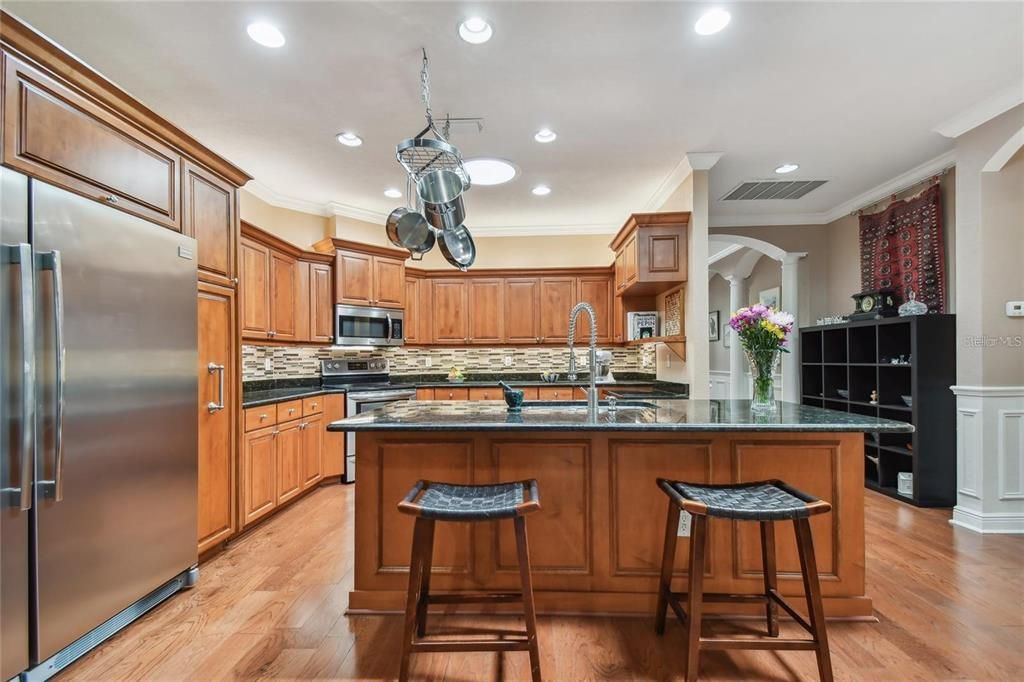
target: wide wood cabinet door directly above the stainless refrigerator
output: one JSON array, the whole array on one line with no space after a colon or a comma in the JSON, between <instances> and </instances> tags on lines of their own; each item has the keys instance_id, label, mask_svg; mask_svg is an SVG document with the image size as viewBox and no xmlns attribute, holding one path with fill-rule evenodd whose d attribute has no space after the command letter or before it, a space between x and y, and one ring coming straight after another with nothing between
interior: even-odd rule
<instances>
[{"instance_id":1,"label":"wide wood cabinet door directly above the stainless refrigerator","mask_svg":"<svg viewBox=\"0 0 1024 682\"><path fill-rule=\"evenodd\" d=\"M4 54L3 162L181 231L181 157L96 102Z\"/></svg>"}]
</instances>

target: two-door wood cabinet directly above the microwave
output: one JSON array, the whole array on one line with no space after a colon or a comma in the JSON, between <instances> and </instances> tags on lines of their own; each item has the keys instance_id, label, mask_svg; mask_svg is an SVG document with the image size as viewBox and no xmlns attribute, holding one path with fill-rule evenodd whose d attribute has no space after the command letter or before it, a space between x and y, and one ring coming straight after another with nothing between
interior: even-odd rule
<instances>
[{"instance_id":1,"label":"two-door wood cabinet directly above the microwave","mask_svg":"<svg viewBox=\"0 0 1024 682\"><path fill-rule=\"evenodd\" d=\"M406 306L406 263L359 251L335 254L335 300L345 305Z\"/></svg>"}]
</instances>

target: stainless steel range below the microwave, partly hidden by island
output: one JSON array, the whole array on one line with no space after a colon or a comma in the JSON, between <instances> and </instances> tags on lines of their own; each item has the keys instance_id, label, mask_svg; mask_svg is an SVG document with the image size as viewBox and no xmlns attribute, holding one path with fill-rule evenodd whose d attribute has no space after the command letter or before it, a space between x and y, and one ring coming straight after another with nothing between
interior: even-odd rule
<instances>
[{"instance_id":1,"label":"stainless steel range below the microwave, partly hidden by island","mask_svg":"<svg viewBox=\"0 0 1024 682\"><path fill-rule=\"evenodd\" d=\"M321 360L321 381L325 387L345 390L345 414L359 415L389 402L416 397L413 384L392 384L388 361L381 358ZM346 483L355 481L355 434L345 434Z\"/></svg>"}]
</instances>

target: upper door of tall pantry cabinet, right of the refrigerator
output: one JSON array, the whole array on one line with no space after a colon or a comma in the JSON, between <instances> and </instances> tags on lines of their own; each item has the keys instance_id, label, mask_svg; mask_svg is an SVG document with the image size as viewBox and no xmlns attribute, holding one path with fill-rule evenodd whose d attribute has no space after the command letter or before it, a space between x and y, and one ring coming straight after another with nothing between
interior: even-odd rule
<instances>
[{"instance_id":1,"label":"upper door of tall pantry cabinet, right of the refrigerator","mask_svg":"<svg viewBox=\"0 0 1024 682\"><path fill-rule=\"evenodd\" d=\"M189 161L182 168L182 231L196 238L199 275L231 286L239 235L234 187Z\"/></svg>"}]
</instances>

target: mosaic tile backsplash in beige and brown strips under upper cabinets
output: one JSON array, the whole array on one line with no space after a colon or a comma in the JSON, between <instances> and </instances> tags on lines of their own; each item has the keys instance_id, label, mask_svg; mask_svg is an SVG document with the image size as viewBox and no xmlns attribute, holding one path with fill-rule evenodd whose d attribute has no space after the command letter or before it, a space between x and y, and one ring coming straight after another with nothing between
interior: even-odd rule
<instances>
[{"instance_id":1,"label":"mosaic tile backsplash in beige and brown strips under upper cabinets","mask_svg":"<svg viewBox=\"0 0 1024 682\"><path fill-rule=\"evenodd\" d=\"M653 372L654 346L606 348L612 354L611 371ZM586 347L577 347L581 371L587 368ZM564 347L479 347L479 348L387 348L346 351L323 346L242 346L242 380L297 379L319 376L319 361L330 357L386 357L392 374L443 373L460 367L473 372L564 372L568 353ZM427 367L426 358L430 358ZM512 364L505 365L511 357ZM267 369L267 360L269 368Z\"/></svg>"}]
</instances>

